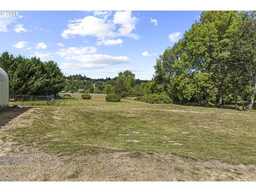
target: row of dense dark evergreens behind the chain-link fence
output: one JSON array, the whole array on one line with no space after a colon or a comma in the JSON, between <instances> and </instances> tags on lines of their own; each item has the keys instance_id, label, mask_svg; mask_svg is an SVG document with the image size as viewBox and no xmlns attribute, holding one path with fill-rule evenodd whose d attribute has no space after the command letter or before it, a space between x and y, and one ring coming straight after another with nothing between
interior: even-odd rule
<instances>
[{"instance_id":1,"label":"row of dense dark evergreens behind the chain-link fence","mask_svg":"<svg viewBox=\"0 0 256 192\"><path fill-rule=\"evenodd\" d=\"M60 92L66 84L65 76L54 61L14 57L6 51L0 55L0 67L9 76L10 94L49 95Z\"/></svg>"}]
</instances>

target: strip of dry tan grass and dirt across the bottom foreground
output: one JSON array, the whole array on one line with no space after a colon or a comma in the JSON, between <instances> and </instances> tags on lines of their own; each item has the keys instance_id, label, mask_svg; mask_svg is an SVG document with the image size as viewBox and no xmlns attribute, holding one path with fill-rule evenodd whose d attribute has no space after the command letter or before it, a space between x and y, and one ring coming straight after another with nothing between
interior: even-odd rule
<instances>
[{"instance_id":1,"label":"strip of dry tan grass and dirt across the bottom foreground","mask_svg":"<svg viewBox=\"0 0 256 192\"><path fill-rule=\"evenodd\" d=\"M255 181L255 166L113 152L58 157L30 148L0 157L1 181Z\"/></svg>"}]
</instances>

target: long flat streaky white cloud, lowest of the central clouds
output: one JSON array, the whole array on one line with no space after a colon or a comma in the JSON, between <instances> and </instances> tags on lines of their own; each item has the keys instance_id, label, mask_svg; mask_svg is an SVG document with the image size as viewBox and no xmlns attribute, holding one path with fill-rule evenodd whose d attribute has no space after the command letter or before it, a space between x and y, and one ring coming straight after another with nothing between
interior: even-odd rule
<instances>
[{"instance_id":1,"label":"long flat streaky white cloud, lowest of the central clouds","mask_svg":"<svg viewBox=\"0 0 256 192\"><path fill-rule=\"evenodd\" d=\"M103 54L87 54L87 55L76 55L73 57L66 57L66 60L77 60L81 63L63 63L63 68L69 69L93 69L103 68L112 65L118 65L121 63L129 62L129 58L126 56L113 57L110 55Z\"/></svg>"}]
</instances>

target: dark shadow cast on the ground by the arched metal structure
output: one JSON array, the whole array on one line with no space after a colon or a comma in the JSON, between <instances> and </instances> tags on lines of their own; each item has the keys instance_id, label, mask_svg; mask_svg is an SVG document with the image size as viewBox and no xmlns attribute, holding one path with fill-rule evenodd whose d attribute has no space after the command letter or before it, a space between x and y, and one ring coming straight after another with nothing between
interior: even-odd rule
<instances>
[{"instance_id":1,"label":"dark shadow cast on the ground by the arched metal structure","mask_svg":"<svg viewBox=\"0 0 256 192\"><path fill-rule=\"evenodd\" d=\"M20 108L9 107L9 108L0 110L0 129L5 124L9 123L12 119L14 119L15 117L18 117L22 113L25 113L27 110L31 108L32 107L23 107L22 109L20 109Z\"/></svg>"}]
</instances>

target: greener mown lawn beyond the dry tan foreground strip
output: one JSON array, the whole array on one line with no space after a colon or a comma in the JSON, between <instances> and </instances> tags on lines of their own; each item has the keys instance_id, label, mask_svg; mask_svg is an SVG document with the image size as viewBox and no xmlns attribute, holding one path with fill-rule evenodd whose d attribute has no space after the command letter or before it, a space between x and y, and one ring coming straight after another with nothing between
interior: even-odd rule
<instances>
[{"instance_id":1,"label":"greener mown lawn beyond the dry tan foreground strip","mask_svg":"<svg viewBox=\"0 0 256 192\"><path fill-rule=\"evenodd\" d=\"M255 111L152 105L126 99L112 103L98 95L91 100L73 95L41 107L41 117L31 126L17 129L13 140L59 155L135 150L256 164Z\"/></svg>"}]
</instances>

